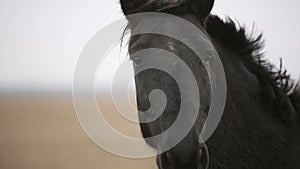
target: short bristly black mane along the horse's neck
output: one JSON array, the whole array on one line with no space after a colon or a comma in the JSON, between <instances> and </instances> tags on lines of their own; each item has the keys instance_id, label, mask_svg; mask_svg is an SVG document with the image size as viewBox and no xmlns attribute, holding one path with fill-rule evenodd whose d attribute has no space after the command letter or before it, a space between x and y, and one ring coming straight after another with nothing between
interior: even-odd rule
<instances>
[{"instance_id":1,"label":"short bristly black mane along the horse's neck","mask_svg":"<svg viewBox=\"0 0 300 169\"><path fill-rule=\"evenodd\" d=\"M260 84L260 102L271 104L270 111L276 112L284 121L290 121L295 109L300 116L300 87L283 67L282 59L279 68L265 59L262 34L247 35L245 27L231 18L222 20L215 15L207 18L205 29L213 39L240 56L247 69L256 75Z\"/></svg>"}]
</instances>

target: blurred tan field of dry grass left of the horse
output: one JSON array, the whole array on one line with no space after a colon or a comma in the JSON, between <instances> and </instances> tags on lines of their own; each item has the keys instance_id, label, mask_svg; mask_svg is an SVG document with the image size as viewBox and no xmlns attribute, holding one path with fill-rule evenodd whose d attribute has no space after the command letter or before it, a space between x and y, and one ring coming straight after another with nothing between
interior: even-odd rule
<instances>
[{"instance_id":1,"label":"blurred tan field of dry grass left of the horse","mask_svg":"<svg viewBox=\"0 0 300 169\"><path fill-rule=\"evenodd\" d=\"M113 119L129 135L139 131L137 125L124 127ZM95 145L80 127L70 94L5 94L0 95L0 169L156 167L152 158L126 159Z\"/></svg>"}]
</instances>

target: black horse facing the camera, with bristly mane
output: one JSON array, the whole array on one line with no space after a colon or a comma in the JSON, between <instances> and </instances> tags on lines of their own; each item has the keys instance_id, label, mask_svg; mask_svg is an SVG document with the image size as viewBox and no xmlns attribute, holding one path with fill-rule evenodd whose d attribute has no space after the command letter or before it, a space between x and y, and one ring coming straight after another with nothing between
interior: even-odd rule
<instances>
[{"instance_id":1,"label":"black horse facing the camera, with bristly mane","mask_svg":"<svg viewBox=\"0 0 300 169\"><path fill-rule=\"evenodd\" d=\"M194 65L192 71L201 86L199 115L194 127L178 145L157 156L158 168L300 168L300 88L282 65L276 68L263 58L262 35L248 36L245 28L231 19L222 20L210 14L213 4L214 0L121 0L125 15L169 13L205 30L226 73L224 115L213 136L205 144L199 144L199 130L211 99L203 63L188 47L170 37L144 34L130 38L129 54L145 48L169 50L187 64ZM172 42L173 50L168 42ZM150 107L148 95L153 89L164 91L167 97L164 113L153 122L140 124L144 138L164 132L172 125L180 108L176 82L162 71L145 70L135 76L135 83L140 111ZM168 140L147 143L159 150L159 144L167 144Z\"/></svg>"}]
</instances>

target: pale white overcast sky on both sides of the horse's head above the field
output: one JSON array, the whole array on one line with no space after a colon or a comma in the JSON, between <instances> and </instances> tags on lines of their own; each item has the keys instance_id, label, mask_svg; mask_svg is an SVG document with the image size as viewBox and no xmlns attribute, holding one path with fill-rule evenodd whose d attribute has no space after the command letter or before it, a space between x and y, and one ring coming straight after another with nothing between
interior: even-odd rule
<instances>
[{"instance_id":1,"label":"pale white overcast sky on both sides of the horse's head above the field","mask_svg":"<svg viewBox=\"0 0 300 169\"><path fill-rule=\"evenodd\" d=\"M271 61L300 76L299 0L216 0L214 13L255 22ZM71 89L86 42L121 16L118 0L0 0L0 89Z\"/></svg>"}]
</instances>

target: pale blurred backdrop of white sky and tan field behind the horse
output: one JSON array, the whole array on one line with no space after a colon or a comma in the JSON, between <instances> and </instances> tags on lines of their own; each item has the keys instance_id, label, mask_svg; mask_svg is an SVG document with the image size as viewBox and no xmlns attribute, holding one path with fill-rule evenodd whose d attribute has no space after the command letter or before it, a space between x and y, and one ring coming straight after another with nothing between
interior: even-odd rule
<instances>
[{"instance_id":1,"label":"pale blurred backdrop of white sky and tan field behind the horse","mask_svg":"<svg viewBox=\"0 0 300 169\"><path fill-rule=\"evenodd\" d=\"M217 0L213 12L231 16L249 31L255 23L255 32L264 32L268 58L278 64L282 57L298 78L299 10L298 0ZM117 0L0 0L0 168L155 168L153 158L126 159L93 144L72 104L72 78L81 50L98 30L120 17ZM97 75L100 88L126 59L118 50L109 56ZM99 102L102 98L104 110L114 114L106 116L112 126L140 136L137 125L116 117L103 96Z\"/></svg>"}]
</instances>

